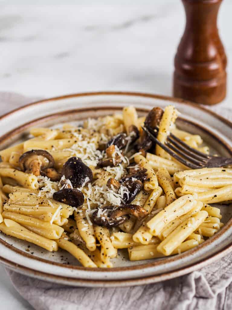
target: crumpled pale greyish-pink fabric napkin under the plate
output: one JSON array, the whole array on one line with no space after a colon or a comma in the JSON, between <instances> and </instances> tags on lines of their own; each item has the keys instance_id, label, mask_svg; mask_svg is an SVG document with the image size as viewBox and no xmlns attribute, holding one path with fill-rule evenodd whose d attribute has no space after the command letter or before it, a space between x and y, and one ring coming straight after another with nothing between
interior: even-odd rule
<instances>
[{"instance_id":1,"label":"crumpled pale greyish-pink fabric napkin under the plate","mask_svg":"<svg viewBox=\"0 0 232 310\"><path fill-rule=\"evenodd\" d=\"M0 93L2 113L35 100ZM213 110L232 120L224 104ZM231 309L232 254L188 275L144 286L123 288L69 287L6 269L15 289L36 310L197 310Z\"/></svg>"}]
</instances>

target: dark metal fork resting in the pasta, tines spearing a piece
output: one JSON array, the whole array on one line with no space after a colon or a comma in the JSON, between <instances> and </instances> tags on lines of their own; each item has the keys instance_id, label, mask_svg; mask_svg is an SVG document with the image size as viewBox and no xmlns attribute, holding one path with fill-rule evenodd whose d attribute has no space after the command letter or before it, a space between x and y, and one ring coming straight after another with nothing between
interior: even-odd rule
<instances>
[{"instance_id":1,"label":"dark metal fork resting in the pasta, tines spearing a piece","mask_svg":"<svg viewBox=\"0 0 232 310\"><path fill-rule=\"evenodd\" d=\"M158 127L154 129L146 125L142 129L148 134L150 139L158 144L163 150L174 157L178 162L191 169L216 168L232 164L232 158L217 157L204 154L195 148L184 143L181 139L170 133L165 144L157 139Z\"/></svg>"}]
</instances>

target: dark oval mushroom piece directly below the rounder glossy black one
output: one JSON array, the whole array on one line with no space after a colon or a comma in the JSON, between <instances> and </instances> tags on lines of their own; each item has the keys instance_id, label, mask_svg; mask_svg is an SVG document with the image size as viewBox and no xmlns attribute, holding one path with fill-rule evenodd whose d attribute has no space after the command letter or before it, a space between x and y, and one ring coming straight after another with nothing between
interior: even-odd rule
<instances>
[{"instance_id":1,"label":"dark oval mushroom piece directly below the rounder glossy black one","mask_svg":"<svg viewBox=\"0 0 232 310\"><path fill-rule=\"evenodd\" d=\"M84 195L76 188L63 188L53 194L53 199L66 203L72 207L82 206L84 203Z\"/></svg>"}]
</instances>

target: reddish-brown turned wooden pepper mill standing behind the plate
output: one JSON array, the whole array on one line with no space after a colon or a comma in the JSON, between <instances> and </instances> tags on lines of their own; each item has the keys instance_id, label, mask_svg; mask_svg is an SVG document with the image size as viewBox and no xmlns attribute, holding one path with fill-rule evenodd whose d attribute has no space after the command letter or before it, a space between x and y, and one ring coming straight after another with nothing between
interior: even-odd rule
<instances>
[{"instance_id":1,"label":"reddish-brown turned wooden pepper mill standing behind the plate","mask_svg":"<svg viewBox=\"0 0 232 310\"><path fill-rule=\"evenodd\" d=\"M182 0L186 26L175 55L173 94L202 104L226 96L226 54L217 30L222 0Z\"/></svg>"}]
</instances>

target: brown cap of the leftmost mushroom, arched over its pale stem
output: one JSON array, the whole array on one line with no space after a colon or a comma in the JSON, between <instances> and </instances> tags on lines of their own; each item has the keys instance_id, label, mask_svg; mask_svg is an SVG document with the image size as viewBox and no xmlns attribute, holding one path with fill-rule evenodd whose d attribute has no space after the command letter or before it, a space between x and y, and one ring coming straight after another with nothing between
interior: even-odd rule
<instances>
[{"instance_id":1,"label":"brown cap of the leftmost mushroom, arched over its pale stem","mask_svg":"<svg viewBox=\"0 0 232 310\"><path fill-rule=\"evenodd\" d=\"M46 168L51 168L54 166L54 158L50 153L48 153L45 150L31 150L23 153L19 157L19 165L20 168L25 171L28 168L30 168L30 163L33 160L39 160L41 162L40 169L46 169Z\"/></svg>"}]
</instances>

